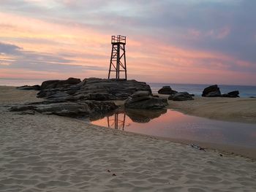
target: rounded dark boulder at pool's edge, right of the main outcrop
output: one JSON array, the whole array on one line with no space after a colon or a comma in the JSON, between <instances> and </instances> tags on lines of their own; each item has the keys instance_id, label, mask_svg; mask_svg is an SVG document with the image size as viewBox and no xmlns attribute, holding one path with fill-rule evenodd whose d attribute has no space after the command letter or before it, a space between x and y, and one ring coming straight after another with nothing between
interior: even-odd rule
<instances>
[{"instance_id":1,"label":"rounded dark boulder at pool's edge, right of the main outcrop","mask_svg":"<svg viewBox=\"0 0 256 192\"><path fill-rule=\"evenodd\" d=\"M124 102L125 107L132 109L162 109L167 104L167 99L153 97L147 91L134 93Z\"/></svg>"}]
</instances>

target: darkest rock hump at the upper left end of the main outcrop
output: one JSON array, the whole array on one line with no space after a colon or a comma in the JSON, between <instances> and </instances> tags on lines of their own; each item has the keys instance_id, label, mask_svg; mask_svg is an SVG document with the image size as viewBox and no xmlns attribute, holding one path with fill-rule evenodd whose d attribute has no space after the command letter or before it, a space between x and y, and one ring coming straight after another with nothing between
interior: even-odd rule
<instances>
[{"instance_id":1,"label":"darkest rock hump at the upper left end of the main outcrop","mask_svg":"<svg viewBox=\"0 0 256 192\"><path fill-rule=\"evenodd\" d=\"M42 82L41 90L50 88L67 88L70 85L76 85L81 80L73 77L69 77L67 80L47 80Z\"/></svg>"}]
</instances>

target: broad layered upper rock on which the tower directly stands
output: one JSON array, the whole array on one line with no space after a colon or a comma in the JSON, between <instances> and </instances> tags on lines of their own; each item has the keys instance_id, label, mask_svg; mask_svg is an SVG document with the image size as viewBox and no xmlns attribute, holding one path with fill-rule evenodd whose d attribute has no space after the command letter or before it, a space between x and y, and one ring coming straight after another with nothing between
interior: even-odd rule
<instances>
[{"instance_id":1,"label":"broad layered upper rock on which the tower directly stands","mask_svg":"<svg viewBox=\"0 0 256 192\"><path fill-rule=\"evenodd\" d=\"M56 87L54 82L54 86ZM58 82L59 83L59 82ZM48 89L43 89L38 93L37 97L45 99L65 99L67 101L75 100L115 100L115 99L127 99L132 93L136 91L148 91L151 93L151 88L146 82L138 82L136 80L106 80L98 78L89 78L83 80L75 85L62 88L49 88L52 85L48 85ZM44 87L44 86L43 86ZM61 93L65 93L64 94ZM71 99L72 97L72 99Z\"/></svg>"}]
</instances>

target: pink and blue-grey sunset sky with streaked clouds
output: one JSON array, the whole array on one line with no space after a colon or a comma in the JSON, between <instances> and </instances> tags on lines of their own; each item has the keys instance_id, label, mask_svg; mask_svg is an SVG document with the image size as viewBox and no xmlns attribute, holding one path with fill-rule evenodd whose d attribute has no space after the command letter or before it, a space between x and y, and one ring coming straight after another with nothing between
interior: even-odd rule
<instances>
[{"instance_id":1,"label":"pink and blue-grey sunset sky with streaked clouds","mask_svg":"<svg viewBox=\"0 0 256 192\"><path fill-rule=\"evenodd\" d=\"M107 78L121 34L128 79L256 85L255 0L0 0L0 18L0 78Z\"/></svg>"}]
</instances>

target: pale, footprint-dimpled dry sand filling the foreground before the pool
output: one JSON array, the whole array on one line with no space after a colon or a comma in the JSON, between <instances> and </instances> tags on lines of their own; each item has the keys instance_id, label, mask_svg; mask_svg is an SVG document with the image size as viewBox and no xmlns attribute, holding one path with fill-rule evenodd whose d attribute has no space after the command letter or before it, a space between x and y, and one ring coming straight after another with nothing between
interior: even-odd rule
<instances>
[{"instance_id":1,"label":"pale, footprint-dimpled dry sand filling the foreground before the pool","mask_svg":"<svg viewBox=\"0 0 256 192\"><path fill-rule=\"evenodd\" d=\"M248 158L71 118L16 115L3 107L7 100L0 100L0 191L256 191Z\"/></svg>"}]
</instances>

